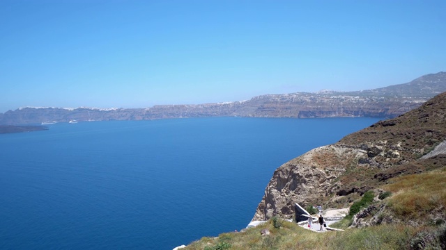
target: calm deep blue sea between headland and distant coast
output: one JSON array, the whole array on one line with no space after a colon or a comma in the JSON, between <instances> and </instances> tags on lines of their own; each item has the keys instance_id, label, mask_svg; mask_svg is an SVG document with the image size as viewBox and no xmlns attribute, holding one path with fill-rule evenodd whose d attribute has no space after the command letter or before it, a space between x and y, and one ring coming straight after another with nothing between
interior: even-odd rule
<instances>
[{"instance_id":1,"label":"calm deep blue sea between headland and distant coast","mask_svg":"<svg viewBox=\"0 0 446 250\"><path fill-rule=\"evenodd\" d=\"M173 249L240 231L277 167L375 122L213 117L0 135L0 249Z\"/></svg>"}]
</instances>

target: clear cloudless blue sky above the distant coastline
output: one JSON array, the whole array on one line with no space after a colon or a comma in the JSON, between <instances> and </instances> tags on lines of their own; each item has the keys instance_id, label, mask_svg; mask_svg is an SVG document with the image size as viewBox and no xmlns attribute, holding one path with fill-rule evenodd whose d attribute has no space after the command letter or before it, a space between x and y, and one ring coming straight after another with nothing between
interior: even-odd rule
<instances>
[{"instance_id":1,"label":"clear cloudless blue sky above the distant coastline","mask_svg":"<svg viewBox=\"0 0 446 250\"><path fill-rule=\"evenodd\" d=\"M446 1L0 1L0 113L366 90L446 71Z\"/></svg>"}]
</instances>

